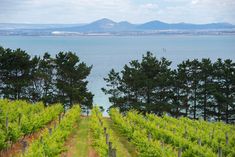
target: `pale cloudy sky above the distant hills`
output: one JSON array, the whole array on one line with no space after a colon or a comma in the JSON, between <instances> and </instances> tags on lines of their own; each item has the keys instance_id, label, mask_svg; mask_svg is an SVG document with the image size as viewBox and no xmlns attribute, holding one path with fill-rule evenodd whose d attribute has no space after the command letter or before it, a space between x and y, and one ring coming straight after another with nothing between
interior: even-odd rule
<instances>
[{"instance_id":1,"label":"pale cloudy sky above the distant hills","mask_svg":"<svg viewBox=\"0 0 235 157\"><path fill-rule=\"evenodd\" d=\"M0 0L0 23L229 22L235 0Z\"/></svg>"}]
</instances>

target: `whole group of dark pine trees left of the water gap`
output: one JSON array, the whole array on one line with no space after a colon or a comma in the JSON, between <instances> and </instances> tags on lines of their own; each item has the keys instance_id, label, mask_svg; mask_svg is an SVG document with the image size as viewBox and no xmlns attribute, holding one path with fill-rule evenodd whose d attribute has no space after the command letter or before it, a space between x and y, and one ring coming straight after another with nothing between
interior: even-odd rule
<instances>
[{"instance_id":1,"label":"whole group of dark pine trees left of the water gap","mask_svg":"<svg viewBox=\"0 0 235 157\"><path fill-rule=\"evenodd\" d=\"M86 80L91 69L73 52L31 57L21 49L0 47L0 97L91 108L93 95Z\"/></svg>"}]
</instances>

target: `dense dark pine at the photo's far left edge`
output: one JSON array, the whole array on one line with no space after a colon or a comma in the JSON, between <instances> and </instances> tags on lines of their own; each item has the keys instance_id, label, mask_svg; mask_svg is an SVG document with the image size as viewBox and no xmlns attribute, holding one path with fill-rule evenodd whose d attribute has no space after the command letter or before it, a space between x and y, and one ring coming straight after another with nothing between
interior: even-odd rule
<instances>
[{"instance_id":1,"label":"dense dark pine at the photo's far left edge","mask_svg":"<svg viewBox=\"0 0 235 157\"><path fill-rule=\"evenodd\" d=\"M0 94L8 99L25 99L37 61L21 49L3 49L0 53Z\"/></svg>"}]
</instances>

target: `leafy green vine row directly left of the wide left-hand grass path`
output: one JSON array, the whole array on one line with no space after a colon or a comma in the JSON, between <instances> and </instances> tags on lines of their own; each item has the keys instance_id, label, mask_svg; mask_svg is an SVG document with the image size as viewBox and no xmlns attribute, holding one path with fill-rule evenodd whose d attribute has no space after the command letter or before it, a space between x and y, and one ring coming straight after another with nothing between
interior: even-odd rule
<instances>
[{"instance_id":1,"label":"leafy green vine row directly left of the wide left-hand grass path","mask_svg":"<svg viewBox=\"0 0 235 157\"><path fill-rule=\"evenodd\" d=\"M45 131L40 139L35 140L27 149L24 157L56 157L65 151L64 143L71 134L74 124L80 118L81 109L74 105L61 120L60 124L52 130Z\"/></svg>"}]
</instances>

